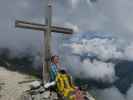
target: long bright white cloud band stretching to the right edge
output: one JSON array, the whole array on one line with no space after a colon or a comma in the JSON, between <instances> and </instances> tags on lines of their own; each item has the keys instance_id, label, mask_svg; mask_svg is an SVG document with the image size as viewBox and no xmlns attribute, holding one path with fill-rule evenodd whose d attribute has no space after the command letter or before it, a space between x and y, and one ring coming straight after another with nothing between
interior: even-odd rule
<instances>
[{"instance_id":1,"label":"long bright white cloud band stretching to the right edge","mask_svg":"<svg viewBox=\"0 0 133 100\"><path fill-rule=\"evenodd\" d=\"M86 35L87 37L87 35ZM79 37L80 38L80 37ZM80 40L80 41L79 41ZM73 54L95 54L102 61L109 59L133 60L133 42L126 43L118 38L81 38L70 44Z\"/></svg>"}]
</instances>

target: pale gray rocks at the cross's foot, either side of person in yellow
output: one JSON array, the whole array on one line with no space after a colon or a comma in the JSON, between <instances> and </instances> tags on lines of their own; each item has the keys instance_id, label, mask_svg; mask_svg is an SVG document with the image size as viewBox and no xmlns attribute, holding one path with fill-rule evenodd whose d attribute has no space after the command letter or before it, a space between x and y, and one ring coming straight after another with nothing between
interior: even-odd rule
<instances>
[{"instance_id":1,"label":"pale gray rocks at the cross's foot, either side of person in yellow","mask_svg":"<svg viewBox=\"0 0 133 100\"><path fill-rule=\"evenodd\" d=\"M95 100L87 91L84 91L85 100ZM58 97L57 93L45 90L44 87L28 90L21 100L64 100Z\"/></svg>"}]
</instances>

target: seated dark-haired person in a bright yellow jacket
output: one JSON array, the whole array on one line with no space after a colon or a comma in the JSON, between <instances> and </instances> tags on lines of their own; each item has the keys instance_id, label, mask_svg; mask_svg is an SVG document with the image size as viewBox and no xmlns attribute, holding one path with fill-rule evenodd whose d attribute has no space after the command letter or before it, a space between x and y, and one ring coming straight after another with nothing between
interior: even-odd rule
<instances>
[{"instance_id":1,"label":"seated dark-haired person in a bright yellow jacket","mask_svg":"<svg viewBox=\"0 0 133 100\"><path fill-rule=\"evenodd\" d=\"M65 70L60 70L56 77L57 91L65 100L83 100L80 90L73 84ZM77 98L78 97L78 98Z\"/></svg>"}]
</instances>

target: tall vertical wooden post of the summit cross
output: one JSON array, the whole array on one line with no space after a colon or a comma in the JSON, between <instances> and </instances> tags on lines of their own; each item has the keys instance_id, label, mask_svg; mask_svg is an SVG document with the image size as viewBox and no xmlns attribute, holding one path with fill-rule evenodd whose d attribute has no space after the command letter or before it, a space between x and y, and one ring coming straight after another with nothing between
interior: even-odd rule
<instances>
[{"instance_id":1,"label":"tall vertical wooden post of the summit cross","mask_svg":"<svg viewBox=\"0 0 133 100\"><path fill-rule=\"evenodd\" d=\"M49 66L51 57L51 22L52 22L52 2L48 0L47 14L45 23L47 25L46 33L44 33L44 59L43 59L43 82L49 79Z\"/></svg>"}]
</instances>

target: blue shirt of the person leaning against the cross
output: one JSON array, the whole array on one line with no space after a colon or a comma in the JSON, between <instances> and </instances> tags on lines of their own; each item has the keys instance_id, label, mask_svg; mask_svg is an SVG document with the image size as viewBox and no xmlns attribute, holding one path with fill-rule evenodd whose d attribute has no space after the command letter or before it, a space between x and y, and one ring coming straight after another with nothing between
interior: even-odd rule
<instances>
[{"instance_id":1,"label":"blue shirt of the person leaning against the cross","mask_svg":"<svg viewBox=\"0 0 133 100\"><path fill-rule=\"evenodd\" d=\"M56 64L51 64L50 66L50 81L55 81L58 69Z\"/></svg>"}]
</instances>

